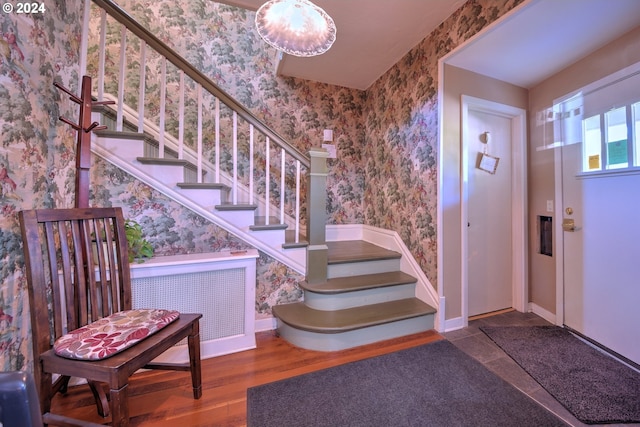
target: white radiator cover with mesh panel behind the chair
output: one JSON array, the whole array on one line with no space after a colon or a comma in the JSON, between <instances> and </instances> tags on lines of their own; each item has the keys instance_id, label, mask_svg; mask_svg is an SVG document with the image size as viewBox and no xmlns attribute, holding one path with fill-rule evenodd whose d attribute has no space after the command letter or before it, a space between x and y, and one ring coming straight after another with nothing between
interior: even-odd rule
<instances>
[{"instance_id":1,"label":"white radiator cover with mesh panel behind the chair","mask_svg":"<svg viewBox=\"0 0 640 427\"><path fill-rule=\"evenodd\" d=\"M202 359L256 347L255 249L156 257L131 265L132 306L202 313ZM186 340L157 360L189 360Z\"/></svg>"}]
</instances>

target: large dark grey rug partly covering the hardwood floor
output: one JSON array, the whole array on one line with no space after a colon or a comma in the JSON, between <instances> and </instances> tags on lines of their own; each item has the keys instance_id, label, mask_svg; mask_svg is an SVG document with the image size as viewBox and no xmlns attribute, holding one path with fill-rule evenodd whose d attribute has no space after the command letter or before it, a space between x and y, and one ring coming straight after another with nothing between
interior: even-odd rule
<instances>
[{"instance_id":1,"label":"large dark grey rug partly covering the hardwood floor","mask_svg":"<svg viewBox=\"0 0 640 427\"><path fill-rule=\"evenodd\" d=\"M247 390L249 427L564 426L446 340Z\"/></svg>"}]
</instances>

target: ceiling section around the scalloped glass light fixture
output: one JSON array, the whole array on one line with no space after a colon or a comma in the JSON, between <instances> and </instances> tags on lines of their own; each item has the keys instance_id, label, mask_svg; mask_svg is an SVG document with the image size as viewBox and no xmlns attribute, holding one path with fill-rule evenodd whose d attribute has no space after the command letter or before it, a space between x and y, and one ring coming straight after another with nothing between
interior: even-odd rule
<instances>
[{"instance_id":1,"label":"ceiling section around the scalloped glass light fixture","mask_svg":"<svg viewBox=\"0 0 640 427\"><path fill-rule=\"evenodd\" d=\"M257 10L266 0L216 0ZM336 41L311 58L283 55L278 73L367 89L466 0L313 0L336 23Z\"/></svg>"}]
</instances>

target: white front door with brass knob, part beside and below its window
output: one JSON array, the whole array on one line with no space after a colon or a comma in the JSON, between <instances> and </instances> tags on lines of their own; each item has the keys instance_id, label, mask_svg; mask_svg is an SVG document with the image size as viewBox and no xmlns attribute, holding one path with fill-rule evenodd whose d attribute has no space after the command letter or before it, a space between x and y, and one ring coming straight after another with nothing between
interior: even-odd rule
<instances>
[{"instance_id":1,"label":"white front door with brass knob, part beside and below its window","mask_svg":"<svg viewBox=\"0 0 640 427\"><path fill-rule=\"evenodd\" d=\"M564 324L640 363L640 175L582 178L565 146Z\"/></svg>"}]
</instances>

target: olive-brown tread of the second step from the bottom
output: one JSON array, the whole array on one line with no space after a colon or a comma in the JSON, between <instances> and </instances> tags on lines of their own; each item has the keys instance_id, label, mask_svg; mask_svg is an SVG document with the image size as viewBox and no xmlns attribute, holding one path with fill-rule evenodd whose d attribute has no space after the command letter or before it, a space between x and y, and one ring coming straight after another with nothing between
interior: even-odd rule
<instances>
[{"instance_id":1,"label":"olive-brown tread of the second step from the bottom","mask_svg":"<svg viewBox=\"0 0 640 427\"><path fill-rule=\"evenodd\" d=\"M336 277L326 282L309 284L301 282L300 287L305 291L318 294L339 294L343 292L362 291L395 285L416 283L417 279L402 271L387 273L363 274L351 277Z\"/></svg>"}]
</instances>

